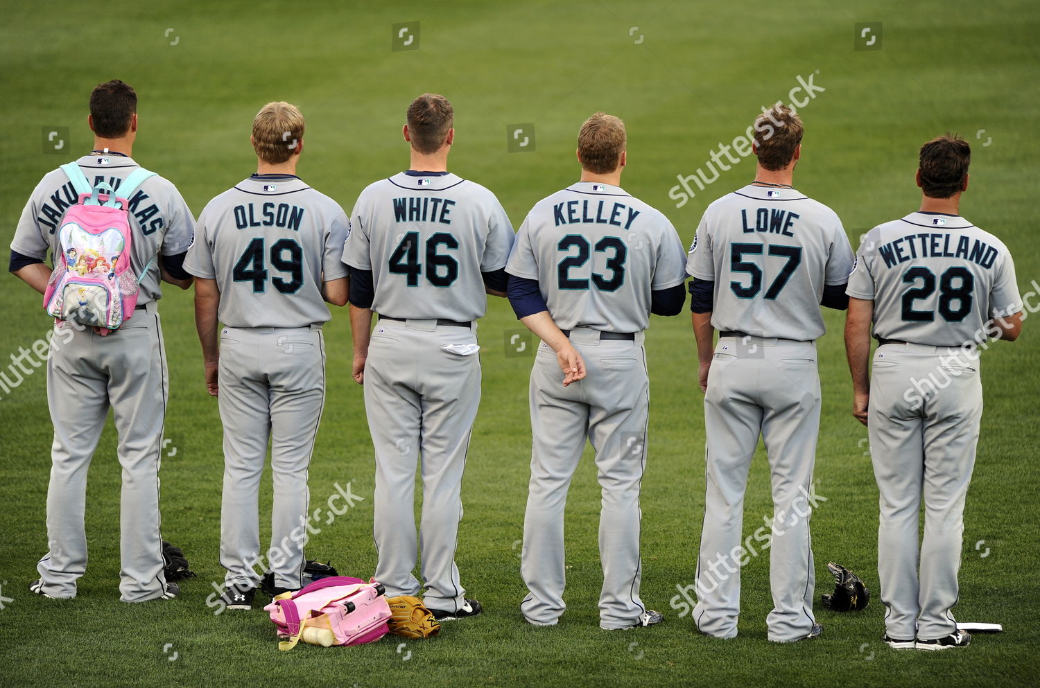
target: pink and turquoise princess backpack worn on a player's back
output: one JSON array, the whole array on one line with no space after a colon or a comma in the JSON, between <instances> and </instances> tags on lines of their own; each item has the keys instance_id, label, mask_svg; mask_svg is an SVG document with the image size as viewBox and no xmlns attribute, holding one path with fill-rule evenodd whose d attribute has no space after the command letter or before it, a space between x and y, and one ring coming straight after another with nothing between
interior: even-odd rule
<instances>
[{"instance_id":1,"label":"pink and turquoise princess backpack worn on a player's back","mask_svg":"<svg viewBox=\"0 0 1040 688\"><path fill-rule=\"evenodd\" d=\"M94 327L107 335L128 320L137 306L140 281L130 266L133 232L128 199L155 173L139 167L120 184L119 193L105 182L90 188L75 162L61 165L79 203L69 208L58 229L54 271L44 293L44 308L56 320Z\"/></svg>"}]
</instances>

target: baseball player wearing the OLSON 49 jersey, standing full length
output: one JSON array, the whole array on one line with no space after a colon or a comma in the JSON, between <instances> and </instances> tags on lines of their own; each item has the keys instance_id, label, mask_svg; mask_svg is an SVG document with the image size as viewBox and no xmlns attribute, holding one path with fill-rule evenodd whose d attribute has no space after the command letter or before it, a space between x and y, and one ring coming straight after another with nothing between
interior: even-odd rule
<instances>
[{"instance_id":1,"label":"baseball player wearing the OLSON 49 jersey, standing full length","mask_svg":"<svg viewBox=\"0 0 1040 688\"><path fill-rule=\"evenodd\" d=\"M206 387L219 398L224 424L227 609L253 607L268 440L275 504L266 560L276 593L302 585L307 469L324 403L324 301L343 306L347 294L346 214L296 177L303 114L289 103L268 103L253 120L251 141L257 173L206 205L185 262L197 277Z\"/></svg>"}]
</instances>

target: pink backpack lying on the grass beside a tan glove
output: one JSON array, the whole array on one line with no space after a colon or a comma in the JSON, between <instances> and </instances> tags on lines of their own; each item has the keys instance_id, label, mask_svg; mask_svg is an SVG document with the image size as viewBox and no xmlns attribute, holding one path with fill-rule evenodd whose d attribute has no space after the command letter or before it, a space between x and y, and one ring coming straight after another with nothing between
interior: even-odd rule
<instances>
[{"instance_id":1,"label":"pink backpack lying on the grass beside a tan glove","mask_svg":"<svg viewBox=\"0 0 1040 688\"><path fill-rule=\"evenodd\" d=\"M278 627L282 652L300 640L318 645L360 645L379 640L389 631L390 605L386 589L373 578L331 576L296 592L275 598L264 611Z\"/></svg>"}]
</instances>

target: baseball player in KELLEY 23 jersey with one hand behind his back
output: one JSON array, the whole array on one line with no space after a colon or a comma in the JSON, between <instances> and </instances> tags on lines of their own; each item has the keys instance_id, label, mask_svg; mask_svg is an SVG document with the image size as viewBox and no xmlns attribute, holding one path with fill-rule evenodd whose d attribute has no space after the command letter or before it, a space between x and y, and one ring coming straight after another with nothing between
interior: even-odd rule
<instances>
[{"instance_id":1,"label":"baseball player in KELLEY 23 jersey with one hand behind his back","mask_svg":"<svg viewBox=\"0 0 1040 688\"><path fill-rule=\"evenodd\" d=\"M510 256L509 296L542 340L530 374L530 488L520 605L536 626L564 613L564 504L586 440L602 488L600 628L652 626L640 599L640 480L649 381L650 313L678 315L684 248L658 211L621 188L625 126L597 112L581 125L581 178L527 214ZM561 379L563 372L563 379Z\"/></svg>"}]
</instances>

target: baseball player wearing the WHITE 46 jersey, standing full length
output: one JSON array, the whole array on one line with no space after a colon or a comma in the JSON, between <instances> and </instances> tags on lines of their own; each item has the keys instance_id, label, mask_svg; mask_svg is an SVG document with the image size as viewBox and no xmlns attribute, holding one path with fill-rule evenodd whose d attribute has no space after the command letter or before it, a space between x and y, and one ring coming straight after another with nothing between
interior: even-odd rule
<instances>
[{"instance_id":1,"label":"baseball player wearing the WHITE 46 jersey, standing full length","mask_svg":"<svg viewBox=\"0 0 1040 688\"><path fill-rule=\"evenodd\" d=\"M447 171L453 111L424 94L408 108L411 168L370 184L350 214L354 378L375 448L375 578L418 596L413 492L422 456L423 603L439 619L473 616L454 551L463 468L480 400L476 319L505 296L513 226L495 195ZM372 313L380 314L374 333Z\"/></svg>"}]
</instances>

